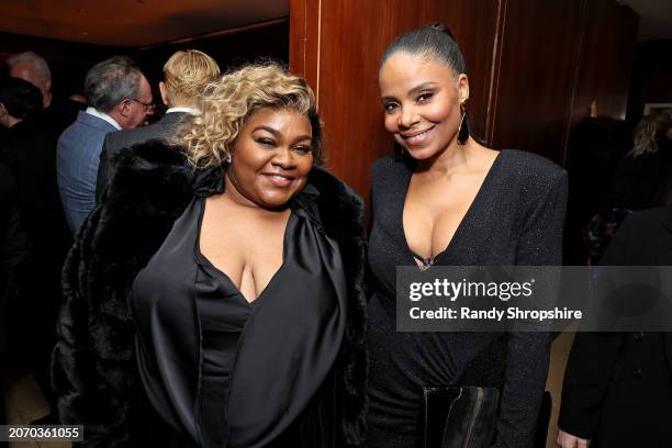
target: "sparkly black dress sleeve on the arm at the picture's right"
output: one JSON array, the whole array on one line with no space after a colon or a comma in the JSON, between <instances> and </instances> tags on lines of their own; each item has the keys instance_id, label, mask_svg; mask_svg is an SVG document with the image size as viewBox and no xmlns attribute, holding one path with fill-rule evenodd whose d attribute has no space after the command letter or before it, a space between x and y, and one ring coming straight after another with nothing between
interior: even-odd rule
<instances>
[{"instance_id":1,"label":"sparkly black dress sleeve on the arm at the picture's right","mask_svg":"<svg viewBox=\"0 0 672 448\"><path fill-rule=\"evenodd\" d=\"M518 240L516 265L562 264L567 173L557 170L533 204ZM550 355L548 333L508 334L508 363L502 392L495 447L527 447L535 435Z\"/></svg>"}]
</instances>

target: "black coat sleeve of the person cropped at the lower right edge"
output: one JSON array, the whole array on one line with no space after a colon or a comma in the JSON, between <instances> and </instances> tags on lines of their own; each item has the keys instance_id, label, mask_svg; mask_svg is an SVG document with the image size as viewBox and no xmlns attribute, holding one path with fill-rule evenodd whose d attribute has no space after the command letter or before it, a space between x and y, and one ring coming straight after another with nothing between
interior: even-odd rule
<instances>
[{"instance_id":1,"label":"black coat sleeve of the person cropped at the lower right edge","mask_svg":"<svg viewBox=\"0 0 672 448\"><path fill-rule=\"evenodd\" d=\"M628 264L628 242L637 235L632 228L631 217L624 221L602 260L603 265ZM592 438L624 343L623 333L576 333L564 371L558 418L560 429L583 439Z\"/></svg>"}]
</instances>

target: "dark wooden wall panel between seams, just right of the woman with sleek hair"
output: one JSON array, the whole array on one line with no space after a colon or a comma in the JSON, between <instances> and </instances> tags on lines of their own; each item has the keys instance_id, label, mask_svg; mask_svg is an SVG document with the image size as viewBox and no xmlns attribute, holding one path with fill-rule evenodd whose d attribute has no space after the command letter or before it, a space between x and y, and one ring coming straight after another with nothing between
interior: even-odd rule
<instances>
[{"instance_id":1,"label":"dark wooden wall panel between seams, just right of the woman with sleek hair","mask_svg":"<svg viewBox=\"0 0 672 448\"><path fill-rule=\"evenodd\" d=\"M489 139L562 161L582 0L507 0Z\"/></svg>"}]
</instances>

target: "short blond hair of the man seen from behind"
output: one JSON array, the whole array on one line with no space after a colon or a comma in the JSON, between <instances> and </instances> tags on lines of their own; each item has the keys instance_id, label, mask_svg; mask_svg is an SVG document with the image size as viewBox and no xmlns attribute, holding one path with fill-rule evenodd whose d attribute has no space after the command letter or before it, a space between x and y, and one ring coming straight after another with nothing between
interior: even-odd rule
<instances>
[{"instance_id":1,"label":"short blond hair of the man seen from behind","mask_svg":"<svg viewBox=\"0 0 672 448\"><path fill-rule=\"evenodd\" d=\"M219 77L217 63L198 49L180 49L164 65L164 83L171 104L198 98Z\"/></svg>"}]
</instances>

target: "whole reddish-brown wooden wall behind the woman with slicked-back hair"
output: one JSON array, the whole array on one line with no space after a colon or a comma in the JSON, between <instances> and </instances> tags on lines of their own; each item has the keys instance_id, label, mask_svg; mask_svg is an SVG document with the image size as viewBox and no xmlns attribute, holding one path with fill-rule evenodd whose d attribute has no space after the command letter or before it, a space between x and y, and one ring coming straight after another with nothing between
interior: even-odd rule
<instances>
[{"instance_id":1,"label":"whole reddish-brown wooden wall behind the woman with slicked-back hair","mask_svg":"<svg viewBox=\"0 0 672 448\"><path fill-rule=\"evenodd\" d=\"M625 116L638 19L615 0L291 0L290 65L317 93L329 167L359 192L392 146L380 56L395 35L430 21L462 47L472 127L492 147L563 164L570 128L593 100L601 115Z\"/></svg>"}]
</instances>

